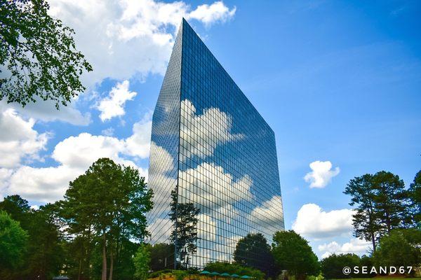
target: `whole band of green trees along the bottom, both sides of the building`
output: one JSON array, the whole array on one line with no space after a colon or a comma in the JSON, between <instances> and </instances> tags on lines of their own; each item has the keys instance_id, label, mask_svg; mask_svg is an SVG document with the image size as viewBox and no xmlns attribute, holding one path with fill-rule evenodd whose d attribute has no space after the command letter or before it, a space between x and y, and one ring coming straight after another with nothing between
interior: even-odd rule
<instances>
[{"instance_id":1,"label":"whole band of green trees along the bottom, both sides of the building","mask_svg":"<svg viewBox=\"0 0 421 280\"><path fill-rule=\"evenodd\" d=\"M237 242L231 264L212 262L205 269L256 279L275 279L287 271L300 280L342 278L342 268L353 264L418 266L420 191L421 172L408 188L389 172L349 181L345 193L352 196L350 204L356 209L354 235L373 244L363 258L333 254L319 261L308 241L289 230L276 232L272 244L261 234L249 234ZM145 280L150 271L172 269L175 254L177 267L192 269L188 256L180 252L196 251L197 229L192 225L199 211L190 204L181 208L178 248L144 244L152 191L137 169L102 158L69 183L63 200L39 209L18 195L0 202L0 279L43 280L65 274L79 280Z\"/></svg>"}]
</instances>

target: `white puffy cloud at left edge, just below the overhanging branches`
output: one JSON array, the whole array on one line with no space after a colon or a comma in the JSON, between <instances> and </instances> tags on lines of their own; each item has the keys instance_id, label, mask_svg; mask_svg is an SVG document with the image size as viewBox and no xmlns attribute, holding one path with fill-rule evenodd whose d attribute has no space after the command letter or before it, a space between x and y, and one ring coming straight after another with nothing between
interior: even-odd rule
<instances>
[{"instance_id":1,"label":"white puffy cloud at left edge, just below the overhanging branches","mask_svg":"<svg viewBox=\"0 0 421 280\"><path fill-rule=\"evenodd\" d=\"M14 109L0 112L0 167L18 167L22 158L40 160L48 134L34 130L34 119L24 120Z\"/></svg>"}]
</instances>

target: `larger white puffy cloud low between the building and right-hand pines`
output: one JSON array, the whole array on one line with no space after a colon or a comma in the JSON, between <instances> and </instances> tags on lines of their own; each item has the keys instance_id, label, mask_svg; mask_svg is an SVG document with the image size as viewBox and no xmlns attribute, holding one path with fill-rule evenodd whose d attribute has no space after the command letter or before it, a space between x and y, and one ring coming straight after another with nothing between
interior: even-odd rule
<instances>
[{"instance_id":1,"label":"larger white puffy cloud low between the building and right-hand pines","mask_svg":"<svg viewBox=\"0 0 421 280\"><path fill-rule=\"evenodd\" d=\"M319 205L304 204L295 218L293 230L315 239L349 234L353 229L352 214L351 209L326 212Z\"/></svg>"}]
</instances>

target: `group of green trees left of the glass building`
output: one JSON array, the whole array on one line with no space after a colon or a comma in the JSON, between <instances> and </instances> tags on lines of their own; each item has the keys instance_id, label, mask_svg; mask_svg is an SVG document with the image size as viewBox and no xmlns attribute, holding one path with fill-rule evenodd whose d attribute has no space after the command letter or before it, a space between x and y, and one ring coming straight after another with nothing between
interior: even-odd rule
<instances>
[{"instance_id":1,"label":"group of green trees left of the glass building","mask_svg":"<svg viewBox=\"0 0 421 280\"><path fill-rule=\"evenodd\" d=\"M0 279L133 279L152 191L138 169L102 158L69 183L64 200L31 209L0 202Z\"/></svg>"}]
</instances>

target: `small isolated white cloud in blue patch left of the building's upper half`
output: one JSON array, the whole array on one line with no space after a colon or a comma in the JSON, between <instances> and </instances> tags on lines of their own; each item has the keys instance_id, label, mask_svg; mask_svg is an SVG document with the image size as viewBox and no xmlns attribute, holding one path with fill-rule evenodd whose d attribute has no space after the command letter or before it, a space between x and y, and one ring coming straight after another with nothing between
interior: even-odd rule
<instances>
[{"instance_id":1,"label":"small isolated white cloud in blue patch left of the building's upper half","mask_svg":"<svg viewBox=\"0 0 421 280\"><path fill-rule=\"evenodd\" d=\"M129 91L128 87L128 80L117 83L115 87L112 87L109 95L100 101L98 110L101 111L100 119L103 122L114 117L124 116L126 113L123 108L124 104L138 94L137 92Z\"/></svg>"}]
</instances>

